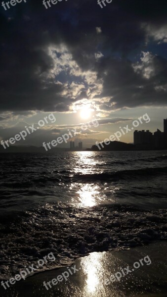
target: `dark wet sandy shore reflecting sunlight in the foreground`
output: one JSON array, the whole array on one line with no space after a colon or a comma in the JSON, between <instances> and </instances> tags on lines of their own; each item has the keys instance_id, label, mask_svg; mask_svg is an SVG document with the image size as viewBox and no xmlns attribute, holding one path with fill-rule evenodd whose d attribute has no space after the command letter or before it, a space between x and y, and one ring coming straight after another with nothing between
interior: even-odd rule
<instances>
[{"instance_id":1,"label":"dark wet sandy shore reflecting sunlight in the foreground","mask_svg":"<svg viewBox=\"0 0 167 297\"><path fill-rule=\"evenodd\" d=\"M143 261L143 266L134 269L134 262L149 256L151 264ZM141 264L141 263L140 263ZM67 281L62 279L56 285L49 282L69 268L63 267L36 274L19 281L4 290L0 286L2 297L166 297L167 296L167 242L154 243L145 247L134 247L129 250L93 252L75 261L77 272L70 275ZM129 266L131 272L104 284L111 274ZM72 265L74 267L74 265ZM134 271L132 271L134 269ZM74 269L70 268L71 271ZM125 271L125 270L124 270ZM69 272L70 274L70 272ZM54 283L54 282L53 282Z\"/></svg>"}]
</instances>

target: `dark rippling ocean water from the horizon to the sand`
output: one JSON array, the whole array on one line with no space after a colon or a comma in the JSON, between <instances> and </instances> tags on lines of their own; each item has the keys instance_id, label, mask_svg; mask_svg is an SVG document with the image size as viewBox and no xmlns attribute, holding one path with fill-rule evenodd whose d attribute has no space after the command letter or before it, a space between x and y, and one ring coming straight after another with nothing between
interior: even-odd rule
<instances>
[{"instance_id":1,"label":"dark rippling ocean water from the horizon to the sand","mask_svg":"<svg viewBox=\"0 0 167 297\"><path fill-rule=\"evenodd\" d=\"M0 154L0 278L167 240L167 151ZM49 252L56 260L41 268Z\"/></svg>"}]
</instances>

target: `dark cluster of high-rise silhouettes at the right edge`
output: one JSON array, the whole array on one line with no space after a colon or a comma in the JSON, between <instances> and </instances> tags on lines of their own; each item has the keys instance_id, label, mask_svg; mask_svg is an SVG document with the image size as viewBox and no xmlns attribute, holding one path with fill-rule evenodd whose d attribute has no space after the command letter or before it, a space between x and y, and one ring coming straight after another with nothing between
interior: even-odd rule
<instances>
[{"instance_id":1,"label":"dark cluster of high-rise silhouettes at the right edge","mask_svg":"<svg viewBox=\"0 0 167 297\"><path fill-rule=\"evenodd\" d=\"M167 119L164 119L164 132L157 129L153 134L149 130L135 130L133 133L133 142L137 149L167 148Z\"/></svg>"}]
</instances>

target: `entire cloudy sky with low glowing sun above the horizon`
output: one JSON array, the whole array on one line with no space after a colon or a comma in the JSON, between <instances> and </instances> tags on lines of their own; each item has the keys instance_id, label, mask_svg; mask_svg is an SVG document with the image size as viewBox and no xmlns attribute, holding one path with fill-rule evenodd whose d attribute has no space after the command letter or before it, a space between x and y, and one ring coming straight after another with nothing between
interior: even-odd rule
<instances>
[{"instance_id":1,"label":"entire cloudy sky with low glowing sun above the horizon","mask_svg":"<svg viewBox=\"0 0 167 297\"><path fill-rule=\"evenodd\" d=\"M0 141L51 113L54 123L15 145L40 147L97 119L98 127L70 139L90 148L145 113L150 122L136 129L163 131L167 0L105 3L61 0L46 9L42 0L22 0L6 10L0 4ZM121 141L132 143L133 131Z\"/></svg>"}]
</instances>

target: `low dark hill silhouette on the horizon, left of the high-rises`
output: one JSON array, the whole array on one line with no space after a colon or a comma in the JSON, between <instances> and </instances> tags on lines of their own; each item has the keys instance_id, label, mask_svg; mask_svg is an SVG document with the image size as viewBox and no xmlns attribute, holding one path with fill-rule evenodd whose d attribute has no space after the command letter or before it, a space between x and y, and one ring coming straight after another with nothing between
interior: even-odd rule
<instances>
[{"instance_id":1,"label":"low dark hill silhouette on the horizon, left of the high-rises","mask_svg":"<svg viewBox=\"0 0 167 297\"><path fill-rule=\"evenodd\" d=\"M135 150L135 146L120 141L111 141L108 145L106 145L104 142L98 145L94 145L91 147L91 150Z\"/></svg>"}]
</instances>

